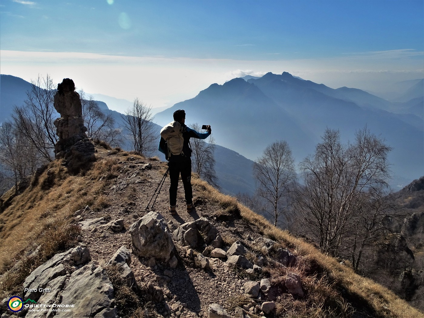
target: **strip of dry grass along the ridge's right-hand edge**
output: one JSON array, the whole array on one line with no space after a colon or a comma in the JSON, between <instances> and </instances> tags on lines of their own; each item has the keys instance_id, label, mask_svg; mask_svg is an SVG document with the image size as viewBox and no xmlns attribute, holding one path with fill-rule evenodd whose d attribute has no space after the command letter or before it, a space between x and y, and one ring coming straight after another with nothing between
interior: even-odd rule
<instances>
[{"instance_id":1,"label":"strip of dry grass along the ridge's right-hand edge","mask_svg":"<svg viewBox=\"0 0 424 318\"><path fill-rule=\"evenodd\" d=\"M314 303L306 306L302 300L293 301L291 298L285 303L282 299L277 305L277 312L285 312L289 317L348 317L353 307L380 318L424 317L420 311L387 288L354 273L351 268L340 265L336 259L322 254L309 243L290 235L287 231L277 229L264 217L238 203L235 198L223 195L198 178L192 178L192 183L202 196L220 202L223 207L231 206L234 211L240 211L241 217L257 226L259 233L287 246L293 254L301 255L303 269L298 267L298 272L308 290L308 299ZM290 268L290 271L293 271L293 268ZM315 276L317 274L324 278L318 278ZM314 287L317 283L318 286ZM344 291L343 295L341 290ZM328 298L324 297L326 295ZM289 303L291 305L287 306ZM289 312L287 308L290 308Z\"/></svg>"}]
</instances>

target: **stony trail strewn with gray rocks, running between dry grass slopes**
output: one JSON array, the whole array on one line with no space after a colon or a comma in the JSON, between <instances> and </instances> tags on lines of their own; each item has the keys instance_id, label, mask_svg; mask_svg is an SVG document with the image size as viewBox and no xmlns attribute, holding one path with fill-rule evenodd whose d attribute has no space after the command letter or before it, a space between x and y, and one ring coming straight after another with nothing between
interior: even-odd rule
<instances>
[{"instance_id":1,"label":"stony trail strewn with gray rocks, running between dry grass slopes","mask_svg":"<svg viewBox=\"0 0 424 318\"><path fill-rule=\"evenodd\" d=\"M115 154L99 151L97 160ZM143 314L149 317L273 317L283 290L286 296L304 296L296 273L287 276L285 286L271 284L264 266L293 266L296 257L262 237L240 214L206 197L198 184L193 185L195 209L187 213L180 181L178 213L171 215L169 178L153 209L146 209L166 164L128 154L116 158L119 173L103 189L107 207L75 211L75 222L81 226L78 246L56 254L23 284L25 300L74 307L70 312L47 313L25 308L18 316L137 316L117 308L117 286L104 271L111 264L117 266L124 285L148 302Z\"/></svg>"}]
</instances>

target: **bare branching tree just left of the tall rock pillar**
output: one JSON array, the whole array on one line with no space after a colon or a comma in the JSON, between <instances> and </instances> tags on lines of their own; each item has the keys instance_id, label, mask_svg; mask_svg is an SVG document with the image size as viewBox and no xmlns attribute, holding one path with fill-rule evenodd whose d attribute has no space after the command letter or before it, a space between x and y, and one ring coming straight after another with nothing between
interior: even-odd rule
<instances>
[{"instance_id":1,"label":"bare branching tree just left of the tall rock pillar","mask_svg":"<svg viewBox=\"0 0 424 318\"><path fill-rule=\"evenodd\" d=\"M53 106L56 88L50 75L31 81L31 91L27 92L25 106L14 107L17 129L36 148L39 155L47 161L54 160L54 148L58 137L53 121L56 109Z\"/></svg>"}]
</instances>

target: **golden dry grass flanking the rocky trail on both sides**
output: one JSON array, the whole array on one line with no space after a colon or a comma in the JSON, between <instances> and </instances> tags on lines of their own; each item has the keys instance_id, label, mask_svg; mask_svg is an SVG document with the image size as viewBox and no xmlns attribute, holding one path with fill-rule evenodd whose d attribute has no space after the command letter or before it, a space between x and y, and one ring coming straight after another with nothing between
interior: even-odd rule
<instances>
[{"instance_id":1,"label":"golden dry grass flanking the rocky trail on both sides","mask_svg":"<svg viewBox=\"0 0 424 318\"><path fill-rule=\"evenodd\" d=\"M119 161L126 160L128 153L114 151L116 156L107 156L104 149L97 149L97 161L78 175L67 173L61 162L50 163L38 178L33 177L32 185L14 197L11 205L0 213L0 273L12 268L18 259L22 260L20 266L1 277L0 296L3 298L19 291L23 279L33 268L57 251L76 244L78 227L73 221L73 212L86 205L101 209L109 204L103 188L117 175ZM101 175L107 177L100 181ZM390 290L357 275L303 240L276 229L265 218L196 176L192 183L201 195L219 202L224 212L240 212L242 218L261 229L262 235L287 246L297 255L299 261L294 271L301 275L307 296L299 300L283 299L277 306L277 316L349 317L354 308L373 317L424 317ZM3 199L10 195L11 192L6 193ZM41 245L39 254L25 256L33 243ZM276 282L284 274L271 271L271 278Z\"/></svg>"}]
</instances>

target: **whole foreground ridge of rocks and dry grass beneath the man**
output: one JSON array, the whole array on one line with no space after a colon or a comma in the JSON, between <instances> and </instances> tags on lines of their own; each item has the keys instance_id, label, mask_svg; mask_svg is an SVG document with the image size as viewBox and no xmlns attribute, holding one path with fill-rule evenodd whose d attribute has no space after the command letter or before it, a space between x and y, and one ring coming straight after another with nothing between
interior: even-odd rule
<instances>
[{"instance_id":1,"label":"whole foreground ridge of rocks and dry grass beneath the man","mask_svg":"<svg viewBox=\"0 0 424 318\"><path fill-rule=\"evenodd\" d=\"M2 285L7 286L2 294L2 310L7 310L10 295L19 295L29 283L38 287L43 279L55 273L56 281L63 280L64 283L47 295L48 298L38 294L37 303L57 301L60 304L78 294L84 296L85 303L78 302L75 306L78 309L71 311L90 312L95 306L100 312L103 308L97 309L99 302L95 299L102 295L102 290L109 290L109 299L114 299L114 302L109 301L104 306L111 318L118 315L130 317L136 310L156 317L207 317L212 303L222 306L237 318L246 315L282 318L290 313L302 317L422 316L390 290L353 273L349 266L319 253L303 240L276 229L234 198L220 194L195 175L192 176L195 195L192 213L185 211L181 191L177 201L178 215L172 216L167 211L166 192L159 194L156 208L151 208L153 212L160 212L162 218L156 221L165 223L166 235L173 233L176 265L171 266L156 257L137 256L132 229L134 224L154 214L144 207L161 180L166 165L133 153L105 148L104 145L96 145L95 150L96 160L89 167L84 167L81 173L68 173L61 160L55 160L34 175L25 190L19 193L12 190L7 194L11 196L8 199L10 204L1 214L4 225L0 235L6 243L11 241L15 244L0 246L1 262L19 254L21 249L30 257L25 263L12 259L7 268L3 267L1 279L8 284ZM6 200L5 196L2 200ZM22 208L27 212L16 213ZM49 218L47 225L46 216ZM150 222L149 227L155 228L155 222ZM207 245L206 248L202 244L191 247L190 244L194 243L189 241L188 235L185 243L188 245L184 247L179 243L175 233L182 229L181 226L184 228L187 223L193 226L196 222L208 224L209 231L213 226L213 231L220 233L223 240L221 250L224 254L228 253L226 256L218 257L215 254L218 251ZM39 227L40 224L44 227ZM217 232L214 233L216 235ZM32 244L25 239L29 235L33 237ZM47 240L53 249L48 250L50 256L43 258L44 254L37 250L47 252ZM61 246L56 245L59 240ZM251 249L250 254L243 251L243 247ZM241 255L229 256L232 248L237 248L238 253L245 255L249 262L262 264L257 265L262 269L249 272L241 263L231 265L232 258L241 258ZM290 262L284 261L284 257L278 258L279 253L285 253ZM122 262L118 259L119 255ZM117 265L122 266L122 271L108 266L112 260L121 262L122 265ZM279 265L281 262L287 266ZM26 270L26 266L31 270ZM58 267L50 270L49 266ZM59 271L61 267L64 267L63 271ZM91 284L71 295L69 290L73 285L84 284L85 276L89 277ZM32 282L31 277L39 277L39 280ZM108 288L89 289L92 284L96 286L96 277L100 277ZM301 282L300 290L290 285L297 277ZM137 286L140 293L131 291L129 284ZM251 286L257 288L256 292ZM147 301L150 301L150 307L146 305ZM21 313L22 316L25 314L25 311Z\"/></svg>"}]
</instances>

